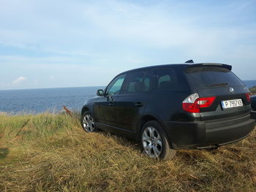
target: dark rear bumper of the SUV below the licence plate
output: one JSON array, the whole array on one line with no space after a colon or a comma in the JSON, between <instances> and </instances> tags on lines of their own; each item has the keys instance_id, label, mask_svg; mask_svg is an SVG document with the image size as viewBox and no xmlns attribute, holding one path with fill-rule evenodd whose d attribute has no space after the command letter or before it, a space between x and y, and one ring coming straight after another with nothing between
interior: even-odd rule
<instances>
[{"instance_id":1,"label":"dark rear bumper of the SUV below the licence plate","mask_svg":"<svg viewBox=\"0 0 256 192\"><path fill-rule=\"evenodd\" d=\"M244 139L254 127L255 120L249 114L222 120L165 122L165 131L174 149L227 145Z\"/></svg>"}]
</instances>

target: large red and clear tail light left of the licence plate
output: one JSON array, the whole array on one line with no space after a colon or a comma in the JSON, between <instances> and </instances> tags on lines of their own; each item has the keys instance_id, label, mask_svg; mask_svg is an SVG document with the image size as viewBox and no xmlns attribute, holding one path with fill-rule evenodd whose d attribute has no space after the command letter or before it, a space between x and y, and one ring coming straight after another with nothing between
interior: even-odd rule
<instances>
[{"instance_id":1,"label":"large red and clear tail light left of the licence plate","mask_svg":"<svg viewBox=\"0 0 256 192\"><path fill-rule=\"evenodd\" d=\"M210 107L216 96L199 97L197 93L188 96L182 102L183 110L187 112L200 112L201 108Z\"/></svg>"}]
</instances>

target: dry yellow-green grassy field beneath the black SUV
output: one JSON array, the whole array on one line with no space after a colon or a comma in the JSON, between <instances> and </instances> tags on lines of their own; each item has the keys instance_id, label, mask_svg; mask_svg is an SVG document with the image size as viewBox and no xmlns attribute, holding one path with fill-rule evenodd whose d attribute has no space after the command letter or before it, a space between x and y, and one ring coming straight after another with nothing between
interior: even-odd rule
<instances>
[{"instance_id":1,"label":"dry yellow-green grassy field beneath the black SUV","mask_svg":"<svg viewBox=\"0 0 256 192\"><path fill-rule=\"evenodd\" d=\"M180 150L158 161L122 137L87 134L65 114L1 113L0 191L252 192L256 131L218 150Z\"/></svg>"}]
</instances>

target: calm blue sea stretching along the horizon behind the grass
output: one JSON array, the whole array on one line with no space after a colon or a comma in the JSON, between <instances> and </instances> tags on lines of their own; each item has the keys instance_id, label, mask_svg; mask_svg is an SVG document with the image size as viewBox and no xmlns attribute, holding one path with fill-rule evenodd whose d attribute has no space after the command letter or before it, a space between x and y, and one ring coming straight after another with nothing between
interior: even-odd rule
<instances>
[{"instance_id":1,"label":"calm blue sea stretching along the horizon behind the grass","mask_svg":"<svg viewBox=\"0 0 256 192\"><path fill-rule=\"evenodd\" d=\"M256 80L244 80L248 88L256 85ZM10 114L41 112L61 112L63 106L80 112L84 102L96 96L99 87L81 88L38 88L20 90L0 90L0 112Z\"/></svg>"}]
</instances>

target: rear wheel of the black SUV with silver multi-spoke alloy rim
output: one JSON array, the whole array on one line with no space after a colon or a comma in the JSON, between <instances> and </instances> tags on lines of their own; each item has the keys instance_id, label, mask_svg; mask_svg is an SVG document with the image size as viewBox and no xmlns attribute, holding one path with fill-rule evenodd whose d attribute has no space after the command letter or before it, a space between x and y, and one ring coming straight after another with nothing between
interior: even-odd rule
<instances>
[{"instance_id":1,"label":"rear wheel of the black SUV with silver multi-spoke alloy rim","mask_svg":"<svg viewBox=\"0 0 256 192\"><path fill-rule=\"evenodd\" d=\"M143 125L140 142L143 152L150 158L170 160L176 155L176 150L171 149L167 141L165 131L155 120L150 120Z\"/></svg>"}]
</instances>

